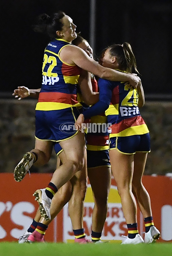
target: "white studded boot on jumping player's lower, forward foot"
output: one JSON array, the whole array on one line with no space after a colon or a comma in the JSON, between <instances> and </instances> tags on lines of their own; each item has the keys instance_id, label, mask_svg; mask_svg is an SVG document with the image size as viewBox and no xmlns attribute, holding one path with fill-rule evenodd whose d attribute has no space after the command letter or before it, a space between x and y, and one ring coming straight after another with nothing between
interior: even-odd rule
<instances>
[{"instance_id":1,"label":"white studded boot on jumping player's lower, forward foot","mask_svg":"<svg viewBox=\"0 0 172 256\"><path fill-rule=\"evenodd\" d=\"M35 200L38 201L39 207L40 207L40 214L44 219L50 220L50 205L51 205L51 199L46 195L44 189L37 189L33 196L35 196Z\"/></svg>"}]
</instances>

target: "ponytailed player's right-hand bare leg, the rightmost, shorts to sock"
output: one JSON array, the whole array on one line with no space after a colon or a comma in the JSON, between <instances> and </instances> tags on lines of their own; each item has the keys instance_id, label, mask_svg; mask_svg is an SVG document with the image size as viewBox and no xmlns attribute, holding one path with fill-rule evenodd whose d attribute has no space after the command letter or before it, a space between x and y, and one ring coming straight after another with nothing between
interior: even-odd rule
<instances>
[{"instance_id":1,"label":"ponytailed player's right-hand bare leg, the rightmost, shorts to sock","mask_svg":"<svg viewBox=\"0 0 172 256\"><path fill-rule=\"evenodd\" d=\"M134 155L134 173L132 179L132 192L144 218L152 216L150 196L142 184L146 158L147 153L138 152Z\"/></svg>"}]
</instances>

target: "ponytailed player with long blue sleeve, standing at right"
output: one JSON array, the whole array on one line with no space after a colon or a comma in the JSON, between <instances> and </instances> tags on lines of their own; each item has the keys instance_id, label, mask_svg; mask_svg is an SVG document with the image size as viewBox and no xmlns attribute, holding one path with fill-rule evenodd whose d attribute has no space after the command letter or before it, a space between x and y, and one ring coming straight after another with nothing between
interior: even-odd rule
<instances>
[{"instance_id":1,"label":"ponytailed player with long blue sleeve, standing at right","mask_svg":"<svg viewBox=\"0 0 172 256\"><path fill-rule=\"evenodd\" d=\"M138 72L129 43L107 48L102 65L121 73L131 73L132 68ZM134 89L121 81L101 78L98 85L99 102L84 111L76 123L81 127L84 118L105 111L107 122L112 124L109 144L111 168L128 227L128 237L122 244L151 243L159 238L160 233L154 226L150 197L142 184L146 158L150 151L149 131L139 112L139 107L144 105L142 85ZM145 221L144 241L138 233L136 201Z\"/></svg>"}]
</instances>

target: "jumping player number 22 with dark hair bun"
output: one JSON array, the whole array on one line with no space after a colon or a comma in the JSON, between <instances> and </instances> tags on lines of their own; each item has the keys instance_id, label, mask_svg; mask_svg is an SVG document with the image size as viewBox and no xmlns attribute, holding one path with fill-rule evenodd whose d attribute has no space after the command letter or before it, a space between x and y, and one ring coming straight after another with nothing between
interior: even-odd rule
<instances>
[{"instance_id":1,"label":"jumping player number 22 with dark hair bun","mask_svg":"<svg viewBox=\"0 0 172 256\"><path fill-rule=\"evenodd\" d=\"M42 14L35 29L47 33L51 41L44 52L42 87L36 105L35 148L27 152L16 166L14 177L16 181L21 181L34 162L46 163L49 142L60 144L67 161L56 168L46 188L37 189L34 193L42 217L50 219L52 198L84 166L84 134L73 126L67 133L60 130L62 123L75 123L79 116L78 107L81 104L77 101L76 92L81 69L104 79L129 81L135 87L140 84L140 78L102 67L81 48L72 45L77 37L76 25L64 12L57 12L51 17Z\"/></svg>"}]
</instances>

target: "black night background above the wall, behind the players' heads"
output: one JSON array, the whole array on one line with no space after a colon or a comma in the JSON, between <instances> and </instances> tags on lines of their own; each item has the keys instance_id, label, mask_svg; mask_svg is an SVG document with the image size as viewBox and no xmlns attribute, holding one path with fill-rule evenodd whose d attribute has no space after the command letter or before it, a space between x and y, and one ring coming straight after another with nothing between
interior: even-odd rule
<instances>
[{"instance_id":1,"label":"black night background above the wall, behind the players' heads","mask_svg":"<svg viewBox=\"0 0 172 256\"><path fill-rule=\"evenodd\" d=\"M41 86L49 38L32 29L39 14L64 11L89 41L89 0L1 0L0 9L1 94L12 93L17 86ZM95 36L96 55L107 45L128 41L145 93L171 99L172 1L97 0Z\"/></svg>"}]
</instances>

